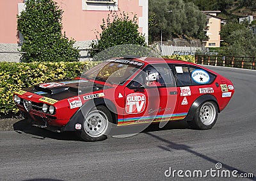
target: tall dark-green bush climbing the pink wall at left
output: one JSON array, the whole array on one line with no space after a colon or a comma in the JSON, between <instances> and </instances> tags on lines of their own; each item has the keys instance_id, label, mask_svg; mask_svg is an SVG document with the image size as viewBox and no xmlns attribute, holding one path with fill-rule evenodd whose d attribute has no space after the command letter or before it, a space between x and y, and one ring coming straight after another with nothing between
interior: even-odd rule
<instances>
[{"instance_id":1,"label":"tall dark-green bush climbing the pink wall at left","mask_svg":"<svg viewBox=\"0 0 256 181\"><path fill-rule=\"evenodd\" d=\"M62 14L52 0L26 1L26 11L17 16L17 29L24 36L21 61L77 61L74 40L61 34Z\"/></svg>"}]
</instances>

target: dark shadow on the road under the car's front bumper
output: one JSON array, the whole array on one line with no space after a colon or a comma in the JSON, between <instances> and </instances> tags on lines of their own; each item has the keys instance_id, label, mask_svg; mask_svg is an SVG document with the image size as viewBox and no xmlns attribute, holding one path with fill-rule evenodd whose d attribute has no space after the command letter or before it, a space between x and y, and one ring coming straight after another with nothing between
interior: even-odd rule
<instances>
[{"instance_id":1,"label":"dark shadow on the road under the car's front bumper","mask_svg":"<svg viewBox=\"0 0 256 181\"><path fill-rule=\"evenodd\" d=\"M23 132L26 134L31 134L32 138L35 139L57 139L57 140L66 140L66 141L81 141L74 132L52 132L50 130L41 129L33 126L28 122L27 119L20 120L13 124L13 130L22 134Z\"/></svg>"}]
</instances>

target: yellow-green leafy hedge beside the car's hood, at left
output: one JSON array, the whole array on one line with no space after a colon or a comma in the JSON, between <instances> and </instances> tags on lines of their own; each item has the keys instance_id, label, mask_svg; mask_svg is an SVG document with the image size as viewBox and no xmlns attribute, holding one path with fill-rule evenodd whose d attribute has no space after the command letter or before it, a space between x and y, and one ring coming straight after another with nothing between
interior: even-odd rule
<instances>
[{"instance_id":1,"label":"yellow-green leafy hedge beside the car's hood, at left","mask_svg":"<svg viewBox=\"0 0 256 181\"><path fill-rule=\"evenodd\" d=\"M0 62L0 114L17 113L13 92L45 81L72 79L80 76L84 68L99 64L97 61L58 63Z\"/></svg>"}]
</instances>

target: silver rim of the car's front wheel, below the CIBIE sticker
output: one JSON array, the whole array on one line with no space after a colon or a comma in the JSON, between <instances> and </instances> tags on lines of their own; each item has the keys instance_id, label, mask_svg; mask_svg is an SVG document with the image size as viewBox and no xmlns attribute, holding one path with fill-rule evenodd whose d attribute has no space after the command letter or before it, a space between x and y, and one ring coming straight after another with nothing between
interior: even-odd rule
<instances>
[{"instance_id":1,"label":"silver rim of the car's front wheel, below the CIBIE sticker","mask_svg":"<svg viewBox=\"0 0 256 181\"><path fill-rule=\"evenodd\" d=\"M88 113L84 120L84 130L93 138L98 138L105 134L108 129L108 116L100 110L94 110Z\"/></svg>"}]
</instances>

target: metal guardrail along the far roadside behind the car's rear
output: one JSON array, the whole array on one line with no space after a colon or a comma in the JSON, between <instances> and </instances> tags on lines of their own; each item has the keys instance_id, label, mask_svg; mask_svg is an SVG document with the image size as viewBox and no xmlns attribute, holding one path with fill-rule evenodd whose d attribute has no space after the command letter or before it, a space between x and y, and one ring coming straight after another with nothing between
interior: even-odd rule
<instances>
[{"instance_id":1,"label":"metal guardrail along the far roadside behind the car's rear","mask_svg":"<svg viewBox=\"0 0 256 181\"><path fill-rule=\"evenodd\" d=\"M235 57L235 56L205 56L196 55L196 63L202 65L214 65L221 67L235 67L256 70L255 57Z\"/></svg>"}]
</instances>

